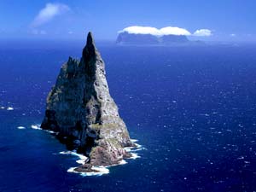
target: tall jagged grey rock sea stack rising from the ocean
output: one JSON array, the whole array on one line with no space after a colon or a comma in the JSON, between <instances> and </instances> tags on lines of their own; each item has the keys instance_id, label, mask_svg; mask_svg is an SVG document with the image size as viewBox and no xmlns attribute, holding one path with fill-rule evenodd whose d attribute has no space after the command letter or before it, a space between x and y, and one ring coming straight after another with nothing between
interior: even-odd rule
<instances>
[{"instance_id":1,"label":"tall jagged grey rock sea stack rising from the ocean","mask_svg":"<svg viewBox=\"0 0 256 192\"><path fill-rule=\"evenodd\" d=\"M135 145L109 94L105 64L91 32L81 59L69 57L61 67L41 127L58 132L61 143L88 157L77 172L115 165L131 156L125 147Z\"/></svg>"}]
</instances>

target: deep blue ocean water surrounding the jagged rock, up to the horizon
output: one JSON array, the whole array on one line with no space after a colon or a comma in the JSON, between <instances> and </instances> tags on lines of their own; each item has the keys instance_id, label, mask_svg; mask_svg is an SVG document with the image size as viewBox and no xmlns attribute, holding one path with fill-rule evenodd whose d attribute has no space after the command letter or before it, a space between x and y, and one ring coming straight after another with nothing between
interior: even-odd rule
<instances>
[{"instance_id":1,"label":"deep blue ocean water surrounding the jagged rock, up to the horizon","mask_svg":"<svg viewBox=\"0 0 256 192\"><path fill-rule=\"evenodd\" d=\"M83 44L0 44L0 191L255 191L256 46L98 46L110 93L144 150L108 175L68 173L75 156L31 129ZM19 130L18 126L26 129Z\"/></svg>"}]
</instances>

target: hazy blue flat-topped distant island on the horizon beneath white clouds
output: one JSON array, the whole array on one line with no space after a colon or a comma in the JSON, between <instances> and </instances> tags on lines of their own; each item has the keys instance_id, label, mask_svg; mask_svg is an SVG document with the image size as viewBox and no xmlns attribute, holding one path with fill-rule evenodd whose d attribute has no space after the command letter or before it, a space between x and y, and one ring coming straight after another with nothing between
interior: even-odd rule
<instances>
[{"instance_id":1,"label":"hazy blue flat-topped distant island on the horizon beneath white clouds","mask_svg":"<svg viewBox=\"0 0 256 192\"><path fill-rule=\"evenodd\" d=\"M201 41L189 41L185 35L140 34L119 32L116 44L119 45L202 45Z\"/></svg>"}]
</instances>

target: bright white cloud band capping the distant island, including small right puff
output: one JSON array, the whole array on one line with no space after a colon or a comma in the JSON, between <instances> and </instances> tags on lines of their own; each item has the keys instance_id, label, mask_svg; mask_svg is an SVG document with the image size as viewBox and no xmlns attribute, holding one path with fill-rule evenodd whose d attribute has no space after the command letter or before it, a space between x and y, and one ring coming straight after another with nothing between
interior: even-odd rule
<instances>
[{"instance_id":1,"label":"bright white cloud band capping the distant island, including small right puff","mask_svg":"<svg viewBox=\"0 0 256 192\"><path fill-rule=\"evenodd\" d=\"M131 34L150 34L154 36L163 35L185 35L185 36L204 36L208 37L212 35L212 31L209 29L198 29L194 33L189 32L185 28L180 28L177 26L166 26L163 28L155 28L152 26L128 26L125 27L120 32L128 32Z\"/></svg>"}]
</instances>

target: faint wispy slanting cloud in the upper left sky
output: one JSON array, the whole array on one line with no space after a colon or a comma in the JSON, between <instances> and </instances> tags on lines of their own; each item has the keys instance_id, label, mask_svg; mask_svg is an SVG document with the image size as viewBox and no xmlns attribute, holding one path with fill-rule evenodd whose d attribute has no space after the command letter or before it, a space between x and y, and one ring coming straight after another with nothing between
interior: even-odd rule
<instances>
[{"instance_id":1,"label":"faint wispy slanting cloud in the upper left sky","mask_svg":"<svg viewBox=\"0 0 256 192\"><path fill-rule=\"evenodd\" d=\"M52 20L56 15L61 15L67 12L69 7L62 3L47 3L44 9L41 9L35 19L32 21L32 26L41 26L44 23Z\"/></svg>"}]
</instances>

